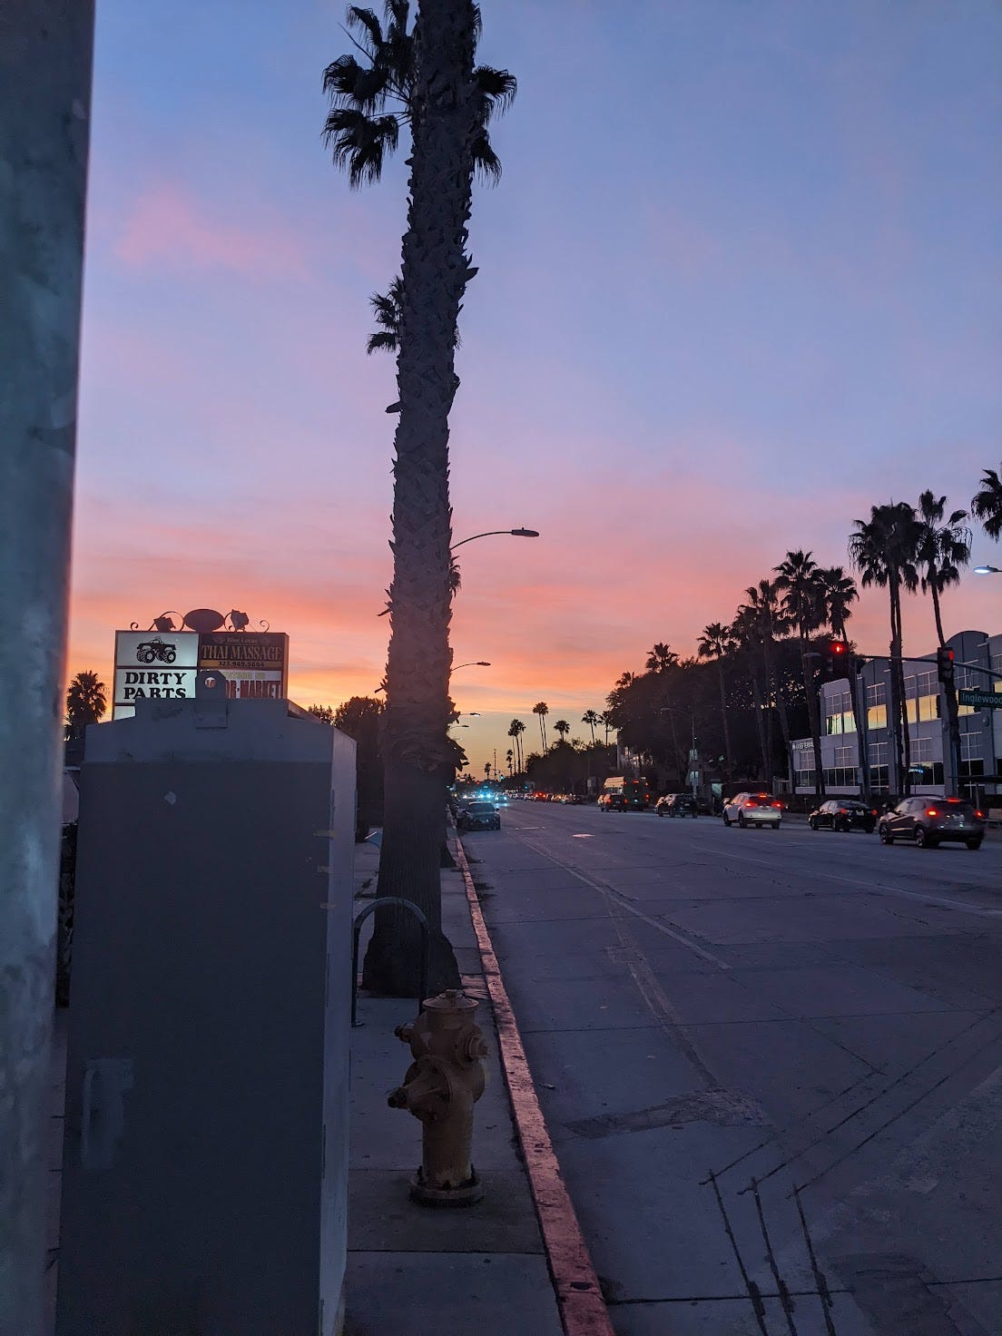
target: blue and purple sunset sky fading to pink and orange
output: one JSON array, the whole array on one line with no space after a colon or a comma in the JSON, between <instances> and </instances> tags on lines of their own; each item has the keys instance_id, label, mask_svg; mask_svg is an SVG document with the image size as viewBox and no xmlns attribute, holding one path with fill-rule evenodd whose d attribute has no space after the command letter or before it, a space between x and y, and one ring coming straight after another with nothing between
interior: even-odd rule
<instances>
[{"instance_id":1,"label":"blue and purple sunset sky fading to pink and orange","mask_svg":"<svg viewBox=\"0 0 1002 1336\"><path fill-rule=\"evenodd\" d=\"M246 609L291 696L381 680L403 158L321 143L327 0L100 0L69 672L114 631ZM788 548L871 504L966 506L1002 457L995 0L482 0L518 96L477 188L452 417L454 679L474 771L546 700L695 652ZM975 529L974 560L1002 566ZM1002 629L967 574L947 633ZM886 652L880 591L851 633ZM906 645L934 643L910 600Z\"/></svg>"}]
</instances>

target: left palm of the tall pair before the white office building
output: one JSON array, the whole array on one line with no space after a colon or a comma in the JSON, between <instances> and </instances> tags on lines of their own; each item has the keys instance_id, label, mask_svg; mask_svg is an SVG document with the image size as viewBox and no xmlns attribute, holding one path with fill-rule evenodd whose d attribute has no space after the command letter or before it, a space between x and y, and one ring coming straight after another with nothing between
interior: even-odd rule
<instances>
[{"instance_id":1,"label":"left palm of the tall pair before the white office building","mask_svg":"<svg viewBox=\"0 0 1002 1336\"><path fill-rule=\"evenodd\" d=\"M902 589L918 589L916 550L921 525L907 501L870 506L868 520L854 520L848 536L848 557L859 570L863 588L887 589L891 613L890 719L894 737L895 782L903 794L911 792L911 740L908 736L904 668L902 664Z\"/></svg>"}]
</instances>

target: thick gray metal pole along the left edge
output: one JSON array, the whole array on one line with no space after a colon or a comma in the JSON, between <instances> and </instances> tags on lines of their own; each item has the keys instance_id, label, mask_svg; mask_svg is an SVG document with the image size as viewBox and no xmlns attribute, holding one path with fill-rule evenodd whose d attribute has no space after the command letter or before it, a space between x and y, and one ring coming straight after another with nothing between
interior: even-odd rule
<instances>
[{"instance_id":1,"label":"thick gray metal pole along the left edge","mask_svg":"<svg viewBox=\"0 0 1002 1336\"><path fill-rule=\"evenodd\" d=\"M0 0L0 1336L40 1336L92 0Z\"/></svg>"}]
</instances>

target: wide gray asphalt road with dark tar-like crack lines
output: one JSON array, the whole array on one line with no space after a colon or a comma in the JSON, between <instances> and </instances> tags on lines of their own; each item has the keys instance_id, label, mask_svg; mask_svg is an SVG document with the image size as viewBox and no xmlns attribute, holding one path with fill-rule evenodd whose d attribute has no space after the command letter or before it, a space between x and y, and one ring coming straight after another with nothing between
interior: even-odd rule
<instances>
[{"instance_id":1,"label":"wide gray asphalt road with dark tar-like crack lines","mask_svg":"<svg viewBox=\"0 0 1002 1336\"><path fill-rule=\"evenodd\" d=\"M464 836L620 1336L999 1336L1002 840Z\"/></svg>"}]
</instances>

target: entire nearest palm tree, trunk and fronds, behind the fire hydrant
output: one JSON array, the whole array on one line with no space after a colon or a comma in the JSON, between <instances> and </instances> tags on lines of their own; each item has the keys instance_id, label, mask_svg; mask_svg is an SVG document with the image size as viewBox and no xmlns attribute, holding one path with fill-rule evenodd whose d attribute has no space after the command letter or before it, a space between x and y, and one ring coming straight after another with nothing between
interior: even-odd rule
<instances>
[{"instance_id":1,"label":"entire nearest palm tree, trunk and fronds, behind the fire hydrant","mask_svg":"<svg viewBox=\"0 0 1002 1336\"><path fill-rule=\"evenodd\" d=\"M432 927L433 991L458 986L453 950L441 931L442 790L461 760L449 739L452 525L449 413L456 330L466 283L474 171L497 178L488 123L514 95L505 71L474 69L480 12L473 0L434 0L421 9L420 40L407 0L387 0L385 27L350 7L354 53L327 67L331 110L325 138L353 187L375 182L410 130L407 230L402 246L397 326L398 410L394 440L393 582L382 752L386 807L379 895L402 896ZM358 56L363 59L359 61ZM365 986L411 995L421 938L411 915L377 911Z\"/></svg>"}]
</instances>

